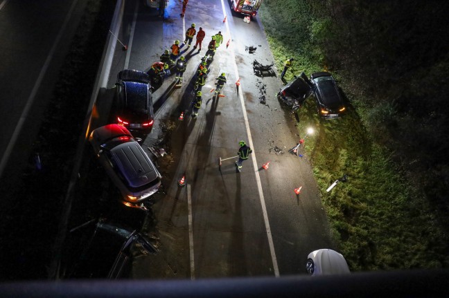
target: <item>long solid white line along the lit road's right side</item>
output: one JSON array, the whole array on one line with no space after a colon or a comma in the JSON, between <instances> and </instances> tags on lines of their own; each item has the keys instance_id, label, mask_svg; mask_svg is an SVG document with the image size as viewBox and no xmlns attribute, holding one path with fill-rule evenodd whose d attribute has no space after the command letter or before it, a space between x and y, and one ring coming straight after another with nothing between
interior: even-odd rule
<instances>
[{"instance_id":1,"label":"long solid white line along the lit road's right side","mask_svg":"<svg viewBox=\"0 0 449 298\"><path fill-rule=\"evenodd\" d=\"M226 10L224 9L224 1L221 0L221 3L222 3L222 8L223 8L223 19L224 19L224 17L227 17L227 15L226 15ZM227 34L229 35L229 38L231 38L231 31L229 30L228 21L226 21L225 24L226 24ZM238 76L238 69L237 69L237 63L236 63L236 56L234 55L234 48L232 48L232 47L231 47L231 55L233 57L232 60L234 62L234 71L236 74L236 78L238 79L239 76ZM242 87L241 83L239 86L238 97L240 98L240 103L242 104L243 118L245 119L245 127L246 127L246 131L248 134L249 147L254 148L253 142L252 142L252 137L251 137L251 131L249 130L248 115L246 112L245 101L243 100L243 87ZM272 262L273 262L274 276L279 277L279 268L278 268L278 264L277 264L276 253L274 252L274 243L273 243L273 237L272 237L272 232L271 232L271 228L270 228L270 221L268 221L267 207L265 206L265 198L263 196L263 191L262 191L261 176L259 175L258 168L257 168L256 155L252 154L251 157L252 157L252 161L253 161L254 172L256 173L256 183L257 183L258 194L259 194L259 197L261 198L263 221L265 221L265 230L267 232L268 245L270 245L270 253L271 253Z\"/></svg>"}]
</instances>

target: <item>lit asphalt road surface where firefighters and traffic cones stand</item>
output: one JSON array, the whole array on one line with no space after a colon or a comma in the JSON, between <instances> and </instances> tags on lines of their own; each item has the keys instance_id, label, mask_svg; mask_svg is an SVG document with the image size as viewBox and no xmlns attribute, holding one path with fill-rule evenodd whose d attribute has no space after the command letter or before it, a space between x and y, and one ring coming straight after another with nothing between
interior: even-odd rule
<instances>
[{"instance_id":1,"label":"lit asphalt road surface where firefighters and traffic cones stand","mask_svg":"<svg viewBox=\"0 0 449 298\"><path fill-rule=\"evenodd\" d=\"M184 32L192 23L205 30L202 51L182 48L188 58L182 88L174 88L172 75L154 93L155 125L143 147L157 145L168 154L155 158L164 191L155 195L156 203L143 232L155 239L160 252L137 254L132 277L306 274L308 253L333 248L333 244L307 156L288 153L300 136L292 114L276 99L281 80L256 77L253 72L254 59L262 64L273 62L262 24L257 17L247 24L242 16L231 15L226 0L190 1L184 18L179 16L181 7L179 1L170 0L162 19L142 1L125 2L117 37L127 50L121 45L115 49L109 79L100 91L89 127L95 129L109 121L119 71L148 70L175 39L184 40ZM223 21L225 15L227 21ZM193 74L211 36L218 31L224 41L209 67L202 108L193 119ZM256 51L249 53L249 46L255 46ZM224 96L213 98L210 91L221 73L227 74ZM266 104L261 104L259 97L264 94ZM182 112L185 118L180 121ZM243 171L236 172L234 159L224 160L220 167L220 157L236 156L240 140L253 149ZM91 149L85 150L76 193L80 200L89 202L114 201L119 194L93 158ZM266 162L270 162L269 167L263 169ZM186 186L179 187L182 176ZM294 189L301 186L301 194L295 194ZM75 203L73 209L82 212L82 208L86 205Z\"/></svg>"}]
</instances>

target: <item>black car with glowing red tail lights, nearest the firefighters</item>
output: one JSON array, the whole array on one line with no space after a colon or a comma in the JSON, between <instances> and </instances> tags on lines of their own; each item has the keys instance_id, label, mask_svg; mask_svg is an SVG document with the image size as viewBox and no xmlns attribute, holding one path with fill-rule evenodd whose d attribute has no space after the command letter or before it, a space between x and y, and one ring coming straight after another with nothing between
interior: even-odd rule
<instances>
[{"instance_id":1,"label":"black car with glowing red tail lights, nearest the firefighters","mask_svg":"<svg viewBox=\"0 0 449 298\"><path fill-rule=\"evenodd\" d=\"M130 131L151 132L155 115L150 77L146 73L132 69L118 73L113 115L114 122Z\"/></svg>"}]
</instances>

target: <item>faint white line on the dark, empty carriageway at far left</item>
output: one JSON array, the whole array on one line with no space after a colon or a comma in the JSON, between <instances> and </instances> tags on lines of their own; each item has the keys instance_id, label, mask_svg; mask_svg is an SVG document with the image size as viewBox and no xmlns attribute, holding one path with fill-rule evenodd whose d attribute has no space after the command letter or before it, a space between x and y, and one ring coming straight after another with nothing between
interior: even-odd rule
<instances>
[{"instance_id":1,"label":"faint white line on the dark, empty carriageway at far left","mask_svg":"<svg viewBox=\"0 0 449 298\"><path fill-rule=\"evenodd\" d=\"M3 2L2 4L4 5L4 3L6 3L6 2ZM15 143L17 142L17 138L19 138L19 133L26 121L26 118L28 118L28 113L31 109L31 106L33 105L37 91L39 90L42 80L44 80L44 75L45 75L46 71L49 69L51 59L53 59L55 50L62 38L62 33L66 30L67 24L69 24L69 19L71 18L73 10L75 10L76 3L78 3L78 0L73 1L72 5L70 7L69 13L67 14L66 18L64 19L64 23L62 24L61 29L58 32L58 36L56 37L55 42L53 43L53 46L51 46L49 55L46 57L44 66L42 66L39 76L37 77L37 80L33 86L33 89L31 90L30 96L28 97L28 100L26 101L24 110L22 111L22 113L20 115L19 122L17 122L14 132L12 132L12 136L10 138L8 146L6 147L5 153L3 153L3 157L1 158L0 176L3 174L6 164L8 163L8 159L10 157L12 148L14 148Z\"/></svg>"}]
</instances>

